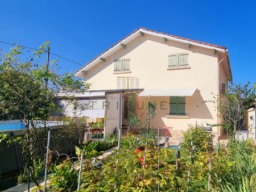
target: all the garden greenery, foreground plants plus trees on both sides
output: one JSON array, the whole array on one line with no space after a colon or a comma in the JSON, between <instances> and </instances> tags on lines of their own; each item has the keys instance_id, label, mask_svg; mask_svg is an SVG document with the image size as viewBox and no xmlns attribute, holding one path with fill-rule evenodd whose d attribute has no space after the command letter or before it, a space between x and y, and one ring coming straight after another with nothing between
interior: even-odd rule
<instances>
[{"instance_id":1,"label":"all the garden greenery, foreground plants plus trees on both sides","mask_svg":"<svg viewBox=\"0 0 256 192\"><path fill-rule=\"evenodd\" d=\"M48 45L40 46L30 60L20 59L24 48L19 46L0 59L0 118L25 122L23 137L0 134L0 143L21 148L24 166L18 177L20 183L32 180L36 183L32 191L256 191L255 140L238 141L234 136L243 128L247 109L255 106L255 84L250 89L249 84L231 84L223 95L227 101L218 102L224 123L210 126L222 126L229 132L228 145L214 146L211 132L201 125L190 125L177 149L164 147L159 143L159 131L150 124L156 107L151 102L145 106L144 123L130 115L126 136L121 136L122 130L115 130L104 140L83 141L85 117L65 115L56 105L55 95L61 91L82 92L90 85L71 73L57 74L56 61L51 62L53 68L36 61L49 53ZM79 107L72 95L65 99L74 109ZM52 116L65 122L59 127L62 137L78 138L76 155L60 154L47 147L51 130L46 124ZM38 122L44 125L40 131ZM129 133L131 129L138 134ZM109 149L112 153L106 155ZM38 182L44 172L46 185Z\"/></svg>"}]
</instances>

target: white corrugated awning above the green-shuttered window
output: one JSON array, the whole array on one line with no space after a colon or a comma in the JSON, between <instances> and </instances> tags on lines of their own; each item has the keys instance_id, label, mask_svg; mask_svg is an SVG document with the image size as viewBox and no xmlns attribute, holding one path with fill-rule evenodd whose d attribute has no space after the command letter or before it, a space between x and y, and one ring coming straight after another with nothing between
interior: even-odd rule
<instances>
[{"instance_id":1,"label":"white corrugated awning above the green-shuttered window","mask_svg":"<svg viewBox=\"0 0 256 192\"><path fill-rule=\"evenodd\" d=\"M147 89L143 90L140 97L191 97L196 88L178 88L178 89Z\"/></svg>"}]
</instances>

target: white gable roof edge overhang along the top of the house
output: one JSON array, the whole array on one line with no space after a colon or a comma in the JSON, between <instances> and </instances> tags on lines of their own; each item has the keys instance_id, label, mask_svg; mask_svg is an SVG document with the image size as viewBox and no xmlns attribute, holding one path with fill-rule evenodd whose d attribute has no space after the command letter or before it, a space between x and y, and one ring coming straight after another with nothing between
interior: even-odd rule
<instances>
[{"instance_id":1,"label":"white gable roof edge overhang along the top of the house","mask_svg":"<svg viewBox=\"0 0 256 192\"><path fill-rule=\"evenodd\" d=\"M138 36L140 36L141 32L142 32L142 34L162 37L162 38L166 38L167 40L179 41L180 43L189 43L189 44L195 45L197 47L203 47L203 48L207 48L207 49L216 49L216 51L220 51L220 52L225 52L225 50L226 50L225 47L222 47L220 45L213 45L213 44L204 43L204 42L201 42L201 41L196 41L196 40L192 40L192 39L186 39L184 37L179 37L179 36L175 36L175 35L165 34L163 32L152 31L152 30L148 30L146 28L141 28L140 27L137 30L131 32L131 34L127 35L123 39L119 40L117 43L112 45L112 47L106 49L104 52L102 52L100 55L95 57L93 60L89 61L82 68L77 70L77 72L75 73L75 76L83 78L84 75L82 73L82 70L85 70L85 71L90 70L95 65L100 63L102 61L102 59L105 60L107 57L112 55L114 52L116 52L119 49L121 49L122 48L122 44L126 45L126 44L130 43L130 41L132 41L135 38L137 38Z\"/></svg>"}]
</instances>

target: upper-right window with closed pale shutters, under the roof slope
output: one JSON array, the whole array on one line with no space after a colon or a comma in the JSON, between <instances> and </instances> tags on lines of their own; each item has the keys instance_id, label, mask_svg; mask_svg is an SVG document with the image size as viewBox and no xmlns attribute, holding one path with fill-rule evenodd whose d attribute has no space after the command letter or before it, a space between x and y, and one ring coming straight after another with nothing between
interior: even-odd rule
<instances>
[{"instance_id":1,"label":"upper-right window with closed pale shutters, under the roof slope","mask_svg":"<svg viewBox=\"0 0 256 192\"><path fill-rule=\"evenodd\" d=\"M169 55L168 68L188 67L188 53L174 53Z\"/></svg>"}]
</instances>

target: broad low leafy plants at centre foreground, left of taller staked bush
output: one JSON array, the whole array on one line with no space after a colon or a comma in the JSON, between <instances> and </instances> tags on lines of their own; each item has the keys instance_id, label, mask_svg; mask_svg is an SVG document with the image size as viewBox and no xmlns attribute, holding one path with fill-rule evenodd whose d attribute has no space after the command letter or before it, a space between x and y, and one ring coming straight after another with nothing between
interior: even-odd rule
<instances>
[{"instance_id":1,"label":"broad low leafy plants at centre foreground, left of taller staked bush","mask_svg":"<svg viewBox=\"0 0 256 192\"><path fill-rule=\"evenodd\" d=\"M158 151L147 145L146 166L143 169L134 150L123 149L111 156L102 169L91 169L82 174L81 191L155 191L159 183L160 190L174 190L174 165L167 164L166 158L172 158L171 149ZM118 158L118 163L117 163Z\"/></svg>"}]
</instances>

